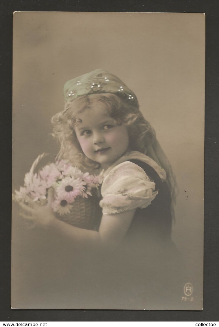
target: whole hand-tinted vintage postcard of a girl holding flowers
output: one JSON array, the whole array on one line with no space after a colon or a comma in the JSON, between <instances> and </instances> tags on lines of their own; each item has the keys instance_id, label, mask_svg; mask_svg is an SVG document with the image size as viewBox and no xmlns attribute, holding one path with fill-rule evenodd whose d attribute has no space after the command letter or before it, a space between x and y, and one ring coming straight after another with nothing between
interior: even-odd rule
<instances>
[{"instance_id":1,"label":"whole hand-tinted vintage postcard of a girl holding flowers","mask_svg":"<svg viewBox=\"0 0 219 327\"><path fill-rule=\"evenodd\" d=\"M202 310L205 14L14 12L13 309Z\"/></svg>"}]
</instances>

